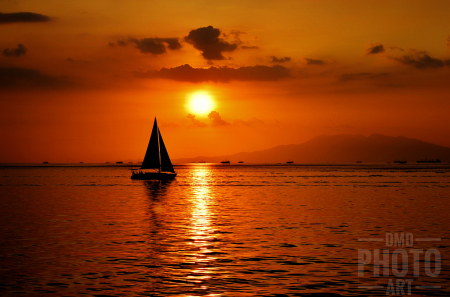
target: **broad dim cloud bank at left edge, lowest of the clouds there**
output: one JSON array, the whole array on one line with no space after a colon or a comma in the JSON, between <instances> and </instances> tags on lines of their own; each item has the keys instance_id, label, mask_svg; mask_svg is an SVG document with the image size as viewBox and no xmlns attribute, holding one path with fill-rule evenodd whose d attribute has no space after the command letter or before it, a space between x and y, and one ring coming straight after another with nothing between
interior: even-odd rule
<instances>
[{"instance_id":1,"label":"broad dim cloud bank at left edge, lowest of the clouds there","mask_svg":"<svg viewBox=\"0 0 450 297\"><path fill-rule=\"evenodd\" d=\"M52 77L39 70L0 67L0 89L56 89L70 86L65 77Z\"/></svg>"}]
</instances>

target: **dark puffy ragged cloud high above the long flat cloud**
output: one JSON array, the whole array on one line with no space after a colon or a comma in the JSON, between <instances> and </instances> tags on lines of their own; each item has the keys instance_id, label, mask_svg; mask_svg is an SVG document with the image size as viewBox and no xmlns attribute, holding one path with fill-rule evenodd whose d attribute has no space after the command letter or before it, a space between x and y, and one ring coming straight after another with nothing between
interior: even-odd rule
<instances>
[{"instance_id":1,"label":"dark puffy ragged cloud high above the long flat cloud","mask_svg":"<svg viewBox=\"0 0 450 297\"><path fill-rule=\"evenodd\" d=\"M206 60L223 60L222 52L232 52L236 50L237 43L229 43L220 36L220 30L212 26L191 30L184 40L202 52Z\"/></svg>"}]
</instances>

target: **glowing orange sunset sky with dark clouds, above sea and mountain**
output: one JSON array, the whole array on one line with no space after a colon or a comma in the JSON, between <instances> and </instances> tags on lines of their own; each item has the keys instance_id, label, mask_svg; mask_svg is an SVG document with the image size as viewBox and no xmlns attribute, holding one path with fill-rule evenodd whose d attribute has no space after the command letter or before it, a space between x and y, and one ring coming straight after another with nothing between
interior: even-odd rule
<instances>
[{"instance_id":1,"label":"glowing orange sunset sky with dark clouds, above sea and mountain","mask_svg":"<svg viewBox=\"0 0 450 297\"><path fill-rule=\"evenodd\" d=\"M155 116L172 159L322 134L450 147L448 11L412 0L0 1L0 162L142 159ZM213 98L214 119L189 109L196 91Z\"/></svg>"}]
</instances>

